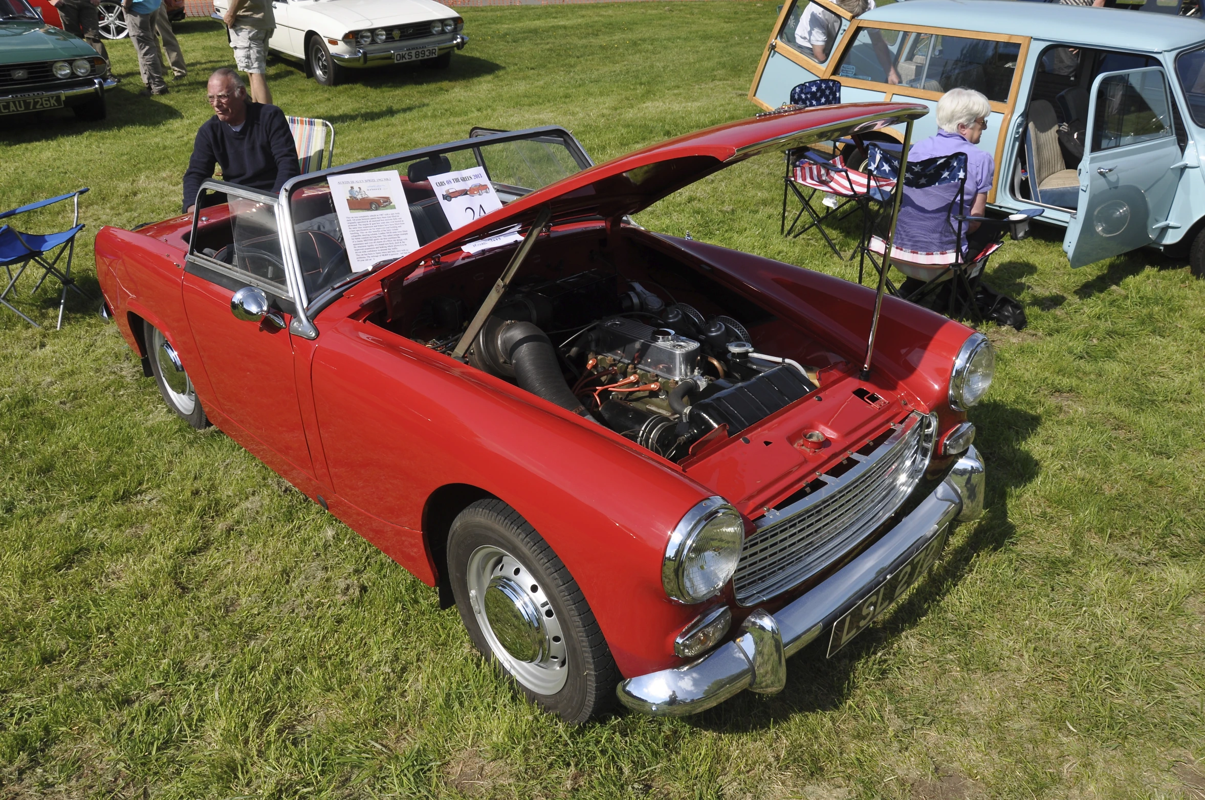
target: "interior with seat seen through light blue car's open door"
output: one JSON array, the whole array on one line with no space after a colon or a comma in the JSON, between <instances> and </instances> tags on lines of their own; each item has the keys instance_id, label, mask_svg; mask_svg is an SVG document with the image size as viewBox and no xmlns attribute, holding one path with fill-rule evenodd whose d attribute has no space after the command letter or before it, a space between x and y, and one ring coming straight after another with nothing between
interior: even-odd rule
<instances>
[{"instance_id":1,"label":"interior with seat seen through light blue car's open door","mask_svg":"<svg viewBox=\"0 0 1205 800\"><path fill-rule=\"evenodd\" d=\"M1038 60L1025 105L1024 146L1012 173L1012 190L1019 199L1075 211L1080 178L1076 170L1084 153L1088 127L1088 93L1103 72L1158 66L1150 55L1092 49L1047 47ZM1176 137L1181 147L1187 131L1172 106Z\"/></svg>"}]
</instances>

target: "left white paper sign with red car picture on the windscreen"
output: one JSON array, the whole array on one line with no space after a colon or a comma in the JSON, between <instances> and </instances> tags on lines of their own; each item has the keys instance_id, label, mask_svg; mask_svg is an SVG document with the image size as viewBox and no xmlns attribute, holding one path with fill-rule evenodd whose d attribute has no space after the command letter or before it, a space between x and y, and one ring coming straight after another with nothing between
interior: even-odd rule
<instances>
[{"instance_id":1,"label":"left white paper sign with red car picture on the windscreen","mask_svg":"<svg viewBox=\"0 0 1205 800\"><path fill-rule=\"evenodd\" d=\"M396 172L352 172L330 178L353 272L418 249L415 220Z\"/></svg>"}]
</instances>

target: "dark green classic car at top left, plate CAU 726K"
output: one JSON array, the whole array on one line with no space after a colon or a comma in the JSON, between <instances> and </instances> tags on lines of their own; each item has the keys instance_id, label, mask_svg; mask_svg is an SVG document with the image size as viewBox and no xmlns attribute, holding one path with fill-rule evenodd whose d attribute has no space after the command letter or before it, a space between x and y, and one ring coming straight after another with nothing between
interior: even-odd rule
<instances>
[{"instance_id":1,"label":"dark green classic car at top left, plate CAU 726K","mask_svg":"<svg viewBox=\"0 0 1205 800\"><path fill-rule=\"evenodd\" d=\"M0 0L0 116L71 108L104 119L114 86L108 61L86 41L43 23L25 0Z\"/></svg>"}]
</instances>

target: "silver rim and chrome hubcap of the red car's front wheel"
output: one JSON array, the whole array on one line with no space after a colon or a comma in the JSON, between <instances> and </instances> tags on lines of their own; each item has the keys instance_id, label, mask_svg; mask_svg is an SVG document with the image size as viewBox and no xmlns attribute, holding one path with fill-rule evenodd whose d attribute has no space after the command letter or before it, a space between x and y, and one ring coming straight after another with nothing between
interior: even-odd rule
<instances>
[{"instance_id":1,"label":"silver rim and chrome hubcap of the red car's front wheel","mask_svg":"<svg viewBox=\"0 0 1205 800\"><path fill-rule=\"evenodd\" d=\"M517 558L496 547L469 557L469 602L494 657L528 689L565 686L565 640L543 587Z\"/></svg>"}]
</instances>

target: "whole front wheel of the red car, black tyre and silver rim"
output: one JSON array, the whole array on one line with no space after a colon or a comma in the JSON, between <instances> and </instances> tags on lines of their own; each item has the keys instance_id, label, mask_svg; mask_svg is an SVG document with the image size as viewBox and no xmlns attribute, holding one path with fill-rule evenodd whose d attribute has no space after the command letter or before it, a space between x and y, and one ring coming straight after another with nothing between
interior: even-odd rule
<instances>
[{"instance_id":1,"label":"whole front wheel of the red car, black tyre and silver rim","mask_svg":"<svg viewBox=\"0 0 1205 800\"><path fill-rule=\"evenodd\" d=\"M594 613L518 512L500 500L462 511L448 533L447 564L472 643L533 702L570 724L615 704L619 670Z\"/></svg>"}]
</instances>

